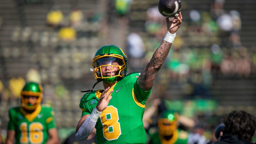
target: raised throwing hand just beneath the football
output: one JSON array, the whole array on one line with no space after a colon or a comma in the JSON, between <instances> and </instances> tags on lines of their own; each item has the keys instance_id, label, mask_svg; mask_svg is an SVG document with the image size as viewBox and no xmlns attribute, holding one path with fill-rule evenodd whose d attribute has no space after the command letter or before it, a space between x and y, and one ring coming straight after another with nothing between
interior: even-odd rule
<instances>
[{"instance_id":1,"label":"raised throwing hand just beneath the football","mask_svg":"<svg viewBox=\"0 0 256 144\"><path fill-rule=\"evenodd\" d=\"M170 21L169 17L166 17L165 20L166 20L166 24L167 24L167 30L170 33L175 33L178 30L178 28L180 27L181 22L182 22L181 12L179 13L179 15L177 17L174 17L174 20Z\"/></svg>"}]
</instances>

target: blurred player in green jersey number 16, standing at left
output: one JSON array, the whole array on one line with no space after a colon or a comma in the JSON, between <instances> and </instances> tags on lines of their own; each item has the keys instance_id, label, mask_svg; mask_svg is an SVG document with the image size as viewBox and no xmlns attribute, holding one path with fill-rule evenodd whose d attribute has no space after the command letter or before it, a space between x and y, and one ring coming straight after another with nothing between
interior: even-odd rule
<instances>
[{"instance_id":1,"label":"blurred player in green jersey number 16, standing at left","mask_svg":"<svg viewBox=\"0 0 256 144\"><path fill-rule=\"evenodd\" d=\"M58 132L49 106L41 105L40 84L27 82L21 92L21 106L9 110L6 144L57 144Z\"/></svg>"}]
</instances>

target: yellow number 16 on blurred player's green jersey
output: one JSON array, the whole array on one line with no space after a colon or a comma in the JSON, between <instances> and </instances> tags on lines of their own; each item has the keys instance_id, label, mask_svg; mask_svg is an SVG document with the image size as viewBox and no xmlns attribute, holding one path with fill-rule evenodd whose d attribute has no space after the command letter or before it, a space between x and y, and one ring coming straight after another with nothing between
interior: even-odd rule
<instances>
[{"instance_id":1,"label":"yellow number 16 on blurred player's green jersey","mask_svg":"<svg viewBox=\"0 0 256 144\"><path fill-rule=\"evenodd\" d=\"M28 143L27 138L27 123L23 122L20 124L21 130L21 143ZM34 144L41 144L43 142L43 125L39 122L33 122L29 125L29 140Z\"/></svg>"}]
</instances>

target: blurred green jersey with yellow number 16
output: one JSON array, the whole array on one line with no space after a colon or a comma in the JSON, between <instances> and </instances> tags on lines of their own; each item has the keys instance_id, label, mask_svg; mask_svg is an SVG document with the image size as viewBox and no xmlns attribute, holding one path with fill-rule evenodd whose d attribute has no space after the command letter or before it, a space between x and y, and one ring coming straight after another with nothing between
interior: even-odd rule
<instances>
[{"instance_id":1,"label":"blurred green jersey with yellow number 16","mask_svg":"<svg viewBox=\"0 0 256 144\"><path fill-rule=\"evenodd\" d=\"M16 144L44 144L48 140L48 130L55 128L53 115L49 106L38 105L32 113L14 107L9 110L8 130L15 130Z\"/></svg>"}]
</instances>

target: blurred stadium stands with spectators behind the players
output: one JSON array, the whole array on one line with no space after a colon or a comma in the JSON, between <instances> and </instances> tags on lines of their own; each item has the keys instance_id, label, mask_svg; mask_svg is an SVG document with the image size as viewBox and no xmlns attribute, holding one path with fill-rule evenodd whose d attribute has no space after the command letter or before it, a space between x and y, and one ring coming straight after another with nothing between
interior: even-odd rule
<instances>
[{"instance_id":1,"label":"blurred stadium stands with spectators behind the players","mask_svg":"<svg viewBox=\"0 0 256 144\"><path fill-rule=\"evenodd\" d=\"M256 1L181 2L181 27L145 109L162 98L213 140L223 114L256 114ZM128 73L142 71L149 62L166 33L157 5L158 0L1 0L2 136L8 110L20 105L25 82L35 81L44 89L42 103L55 111L63 142L81 118L80 91L96 82L90 68L98 48L121 47Z\"/></svg>"}]
</instances>

